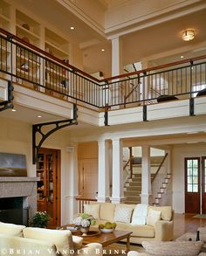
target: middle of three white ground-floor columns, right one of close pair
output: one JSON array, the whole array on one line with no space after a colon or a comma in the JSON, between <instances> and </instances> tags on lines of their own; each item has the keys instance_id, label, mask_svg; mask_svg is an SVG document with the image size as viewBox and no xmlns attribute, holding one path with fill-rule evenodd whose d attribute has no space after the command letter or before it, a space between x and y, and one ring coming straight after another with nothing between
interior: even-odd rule
<instances>
[{"instance_id":1,"label":"middle of three white ground-floor columns, right one of close pair","mask_svg":"<svg viewBox=\"0 0 206 256\"><path fill-rule=\"evenodd\" d=\"M114 204L124 200L123 154L120 139L113 140L113 194L110 199Z\"/></svg>"}]
</instances>

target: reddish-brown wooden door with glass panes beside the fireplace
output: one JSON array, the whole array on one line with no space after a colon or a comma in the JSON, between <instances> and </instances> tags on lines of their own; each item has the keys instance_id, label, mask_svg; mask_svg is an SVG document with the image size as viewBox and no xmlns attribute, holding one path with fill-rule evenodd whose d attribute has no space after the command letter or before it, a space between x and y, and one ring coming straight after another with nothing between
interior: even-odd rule
<instances>
[{"instance_id":1,"label":"reddish-brown wooden door with glass panes beside the fireplace","mask_svg":"<svg viewBox=\"0 0 206 256\"><path fill-rule=\"evenodd\" d=\"M60 150L40 149L38 154L38 211L50 216L49 227L60 225Z\"/></svg>"}]
</instances>

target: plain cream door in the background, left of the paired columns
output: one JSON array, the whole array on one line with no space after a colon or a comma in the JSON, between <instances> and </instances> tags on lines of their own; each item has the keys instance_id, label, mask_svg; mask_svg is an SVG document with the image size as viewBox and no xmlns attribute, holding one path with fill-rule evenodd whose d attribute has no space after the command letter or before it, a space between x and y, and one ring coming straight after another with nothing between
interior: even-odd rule
<instances>
[{"instance_id":1,"label":"plain cream door in the background, left of the paired columns","mask_svg":"<svg viewBox=\"0 0 206 256\"><path fill-rule=\"evenodd\" d=\"M79 161L79 195L94 199L98 192L98 160L85 159Z\"/></svg>"}]
</instances>

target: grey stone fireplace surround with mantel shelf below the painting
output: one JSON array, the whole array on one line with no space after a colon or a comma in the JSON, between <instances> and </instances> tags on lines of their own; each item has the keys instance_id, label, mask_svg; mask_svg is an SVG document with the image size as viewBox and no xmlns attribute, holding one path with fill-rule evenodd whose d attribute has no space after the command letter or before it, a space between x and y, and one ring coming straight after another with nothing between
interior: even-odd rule
<instances>
[{"instance_id":1,"label":"grey stone fireplace surround with mantel shelf below the painting","mask_svg":"<svg viewBox=\"0 0 206 256\"><path fill-rule=\"evenodd\" d=\"M23 207L29 208L31 218L37 211L38 180L38 177L0 176L0 198L23 197Z\"/></svg>"}]
</instances>

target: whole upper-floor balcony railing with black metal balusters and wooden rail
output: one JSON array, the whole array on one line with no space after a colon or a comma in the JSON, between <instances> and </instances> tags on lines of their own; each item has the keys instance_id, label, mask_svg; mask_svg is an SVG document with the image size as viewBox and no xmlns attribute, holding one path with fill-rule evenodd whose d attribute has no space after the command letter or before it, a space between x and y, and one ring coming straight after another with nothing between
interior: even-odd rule
<instances>
[{"instance_id":1,"label":"whole upper-floor balcony railing with black metal balusters and wooden rail","mask_svg":"<svg viewBox=\"0 0 206 256\"><path fill-rule=\"evenodd\" d=\"M165 94L179 100L195 97L206 88L206 55L97 80L0 29L0 73L42 93L109 109L156 103Z\"/></svg>"}]
</instances>

